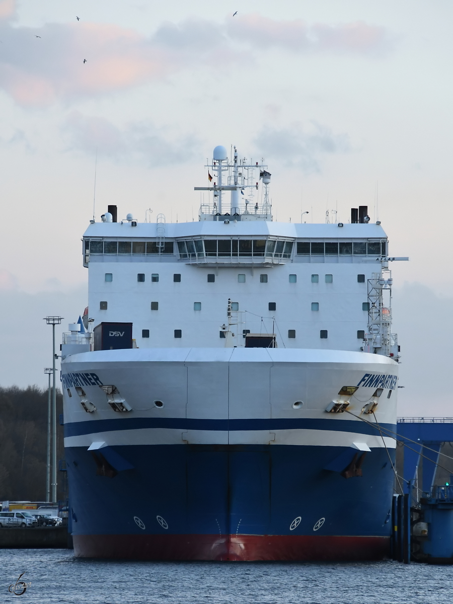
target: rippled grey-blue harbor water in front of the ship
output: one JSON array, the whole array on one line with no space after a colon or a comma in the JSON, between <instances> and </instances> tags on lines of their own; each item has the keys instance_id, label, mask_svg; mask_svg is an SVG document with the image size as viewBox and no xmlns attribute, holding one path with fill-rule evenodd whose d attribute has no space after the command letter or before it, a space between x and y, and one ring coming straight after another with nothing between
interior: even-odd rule
<instances>
[{"instance_id":1,"label":"rippled grey-blue harbor water in front of the ship","mask_svg":"<svg viewBox=\"0 0 453 604\"><path fill-rule=\"evenodd\" d=\"M450 604L453 568L398 562L133 562L72 550L0 550L0 602L90 604Z\"/></svg>"}]
</instances>

